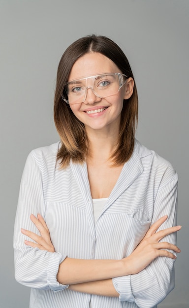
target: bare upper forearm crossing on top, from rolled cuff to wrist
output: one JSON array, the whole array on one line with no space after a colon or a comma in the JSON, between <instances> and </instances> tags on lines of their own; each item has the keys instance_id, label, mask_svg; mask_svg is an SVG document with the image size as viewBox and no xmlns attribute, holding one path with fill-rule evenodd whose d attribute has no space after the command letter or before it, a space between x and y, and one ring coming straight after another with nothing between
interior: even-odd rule
<instances>
[{"instance_id":1,"label":"bare upper forearm crossing on top, from rolled cuff to wrist","mask_svg":"<svg viewBox=\"0 0 189 308\"><path fill-rule=\"evenodd\" d=\"M66 258L59 267L57 280L77 284L129 275L126 260L82 260Z\"/></svg>"}]
</instances>

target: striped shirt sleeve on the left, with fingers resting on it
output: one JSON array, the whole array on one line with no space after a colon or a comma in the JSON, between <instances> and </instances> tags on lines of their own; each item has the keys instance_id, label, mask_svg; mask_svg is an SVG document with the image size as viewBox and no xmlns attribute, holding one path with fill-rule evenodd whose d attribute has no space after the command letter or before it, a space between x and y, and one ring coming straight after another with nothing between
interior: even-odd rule
<instances>
[{"instance_id":1,"label":"striped shirt sleeve on the left, with fingers resting on it","mask_svg":"<svg viewBox=\"0 0 189 308\"><path fill-rule=\"evenodd\" d=\"M44 174L42 165L34 152L29 154L24 168L14 227L15 278L23 285L42 290L59 291L67 288L57 281L60 263L66 255L26 246L24 240L32 241L21 233L21 228L39 234L30 220L31 214L45 214Z\"/></svg>"}]
</instances>

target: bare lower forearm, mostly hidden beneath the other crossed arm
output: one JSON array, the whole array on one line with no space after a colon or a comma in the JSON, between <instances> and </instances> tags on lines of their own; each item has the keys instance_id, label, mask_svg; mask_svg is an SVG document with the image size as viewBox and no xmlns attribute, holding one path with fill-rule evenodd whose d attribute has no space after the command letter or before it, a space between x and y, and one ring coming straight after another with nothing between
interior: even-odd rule
<instances>
[{"instance_id":1,"label":"bare lower forearm, mostly hidden beneath the other crossed arm","mask_svg":"<svg viewBox=\"0 0 189 308\"><path fill-rule=\"evenodd\" d=\"M119 293L113 286L112 279L72 284L69 289L100 296L119 297Z\"/></svg>"}]
</instances>

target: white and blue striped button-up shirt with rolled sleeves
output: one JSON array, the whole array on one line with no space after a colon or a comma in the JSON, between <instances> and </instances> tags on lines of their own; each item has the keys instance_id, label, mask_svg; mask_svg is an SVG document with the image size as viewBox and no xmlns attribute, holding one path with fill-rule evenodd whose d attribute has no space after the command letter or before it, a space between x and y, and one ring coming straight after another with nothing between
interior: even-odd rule
<instances>
[{"instance_id":1,"label":"white and blue striped button-up shirt with rolled sleeves","mask_svg":"<svg viewBox=\"0 0 189 308\"><path fill-rule=\"evenodd\" d=\"M174 260L158 257L136 275L113 278L119 299L79 293L60 284L66 256L122 259L140 243L151 223L168 215L161 229L176 224L177 174L165 159L135 141L96 224L86 163L60 169L59 143L33 150L21 181L15 220L15 277L31 287L30 308L152 308L174 288ZM38 233L30 215L40 213L56 252L24 244L20 229ZM30 239L28 239L30 240ZM176 234L163 239L176 243ZM59 292L57 292L59 291Z\"/></svg>"}]
</instances>

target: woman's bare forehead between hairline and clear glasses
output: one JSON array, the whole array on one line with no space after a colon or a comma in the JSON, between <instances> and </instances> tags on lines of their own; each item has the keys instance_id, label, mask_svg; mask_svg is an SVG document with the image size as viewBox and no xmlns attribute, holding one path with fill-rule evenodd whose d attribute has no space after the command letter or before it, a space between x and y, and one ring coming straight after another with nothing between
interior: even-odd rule
<instances>
[{"instance_id":1,"label":"woman's bare forehead between hairline and clear glasses","mask_svg":"<svg viewBox=\"0 0 189 308\"><path fill-rule=\"evenodd\" d=\"M117 65L104 55L96 52L79 58L72 66L68 81L102 73L118 73Z\"/></svg>"}]
</instances>

